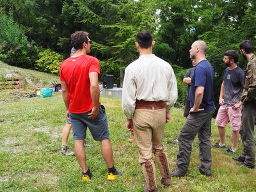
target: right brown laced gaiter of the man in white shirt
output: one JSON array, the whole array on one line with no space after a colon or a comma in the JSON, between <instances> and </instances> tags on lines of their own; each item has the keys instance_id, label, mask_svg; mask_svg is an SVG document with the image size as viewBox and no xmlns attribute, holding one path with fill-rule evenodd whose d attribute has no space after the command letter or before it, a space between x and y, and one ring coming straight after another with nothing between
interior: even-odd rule
<instances>
[{"instance_id":1,"label":"right brown laced gaiter of the man in white shirt","mask_svg":"<svg viewBox=\"0 0 256 192\"><path fill-rule=\"evenodd\" d=\"M168 164L168 159L166 156L166 152L163 150L160 150L159 152L155 153L156 156L156 162L159 167L161 176L162 176L162 184L165 186L170 186L171 184L171 177L170 177L170 168Z\"/></svg>"}]
</instances>

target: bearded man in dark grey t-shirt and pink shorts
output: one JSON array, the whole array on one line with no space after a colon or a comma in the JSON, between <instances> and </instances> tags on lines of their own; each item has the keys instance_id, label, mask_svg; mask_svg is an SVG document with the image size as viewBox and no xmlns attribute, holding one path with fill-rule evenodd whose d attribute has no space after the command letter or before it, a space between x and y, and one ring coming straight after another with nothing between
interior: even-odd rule
<instances>
[{"instance_id":1,"label":"bearded man in dark grey t-shirt and pink shorts","mask_svg":"<svg viewBox=\"0 0 256 192\"><path fill-rule=\"evenodd\" d=\"M225 145L225 127L230 121L232 128L232 147L227 149L227 153L236 153L237 143L239 140L239 130L241 125L241 93L244 84L244 72L237 67L239 55L237 51L230 50L224 54L223 62L227 66L224 72L223 82L220 90L220 109L216 116L215 125L218 126L220 142L215 143L212 147L226 148Z\"/></svg>"}]
</instances>

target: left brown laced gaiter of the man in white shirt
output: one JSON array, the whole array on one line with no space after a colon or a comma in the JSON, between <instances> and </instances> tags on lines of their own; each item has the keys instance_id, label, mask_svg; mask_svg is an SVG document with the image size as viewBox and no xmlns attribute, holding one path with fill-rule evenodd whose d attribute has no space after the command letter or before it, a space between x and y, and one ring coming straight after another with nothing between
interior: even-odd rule
<instances>
[{"instance_id":1,"label":"left brown laced gaiter of the man in white shirt","mask_svg":"<svg viewBox=\"0 0 256 192\"><path fill-rule=\"evenodd\" d=\"M141 170L147 184L147 191L156 191L156 167L153 159L147 160L145 163L141 163Z\"/></svg>"}]
</instances>

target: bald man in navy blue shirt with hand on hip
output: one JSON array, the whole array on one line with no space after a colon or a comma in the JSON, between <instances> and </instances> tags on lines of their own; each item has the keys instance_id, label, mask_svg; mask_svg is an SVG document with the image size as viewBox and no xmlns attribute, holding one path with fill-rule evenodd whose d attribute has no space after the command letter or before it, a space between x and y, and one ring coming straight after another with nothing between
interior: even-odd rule
<instances>
[{"instance_id":1,"label":"bald man in navy blue shirt with hand on hip","mask_svg":"<svg viewBox=\"0 0 256 192\"><path fill-rule=\"evenodd\" d=\"M196 67L191 78L189 90L190 111L179 135L179 153L177 168L171 172L173 177L184 177L187 174L192 143L198 134L199 171L202 175L211 176L211 117L213 104L213 68L206 60L207 45L204 41L196 41L189 51Z\"/></svg>"}]
</instances>

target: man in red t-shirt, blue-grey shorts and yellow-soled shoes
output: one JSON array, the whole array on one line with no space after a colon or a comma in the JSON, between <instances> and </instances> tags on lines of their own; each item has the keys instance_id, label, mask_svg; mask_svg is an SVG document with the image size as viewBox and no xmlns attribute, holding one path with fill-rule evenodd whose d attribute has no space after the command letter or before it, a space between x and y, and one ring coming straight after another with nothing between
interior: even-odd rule
<instances>
[{"instance_id":1,"label":"man in red t-shirt, blue-grey shorts and yellow-soled shoes","mask_svg":"<svg viewBox=\"0 0 256 192\"><path fill-rule=\"evenodd\" d=\"M102 156L108 166L108 180L115 180L122 172L114 166L113 150L109 140L108 120L104 106L99 102L99 60L87 54L92 41L85 31L71 35L71 43L76 53L61 63L60 81L67 118L70 118L75 140L75 154L87 181L92 172L86 164L84 139L87 127L93 139L100 141Z\"/></svg>"}]
</instances>

